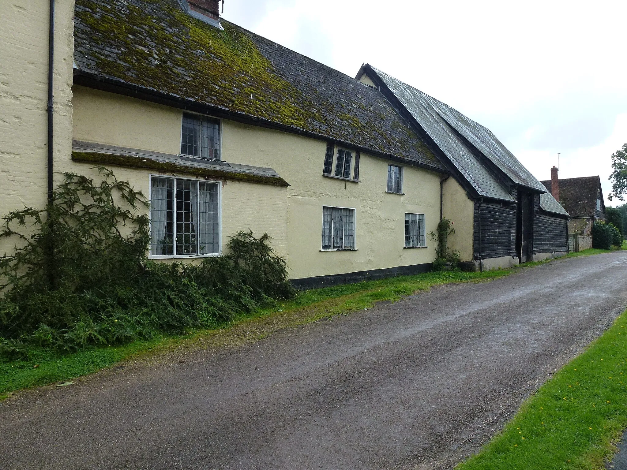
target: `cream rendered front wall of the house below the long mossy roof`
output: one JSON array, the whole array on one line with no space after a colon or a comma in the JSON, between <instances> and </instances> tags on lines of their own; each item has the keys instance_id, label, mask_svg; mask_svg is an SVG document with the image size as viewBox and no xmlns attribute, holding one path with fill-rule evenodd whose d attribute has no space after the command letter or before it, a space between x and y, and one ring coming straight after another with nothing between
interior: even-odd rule
<instances>
[{"instance_id":1,"label":"cream rendered front wall of the house below the long mossy roof","mask_svg":"<svg viewBox=\"0 0 627 470\"><path fill-rule=\"evenodd\" d=\"M100 144L178 154L181 110L74 88L74 138ZM404 195L386 194L387 160L361 154L361 182L324 177L326 143L266 128L222 121L222 159L271 167L290 187L228 181L223 185L223 243L250 227L273 237L287 258L290 278L351 273L431 263L435 244L404 248L406 212L425 214L426 233L440 219L440 175L404 167ZM148 172L116 169L145 189ZM356 251L320 251L322 207L356 209Z\"/></svg>"}]
</instances>

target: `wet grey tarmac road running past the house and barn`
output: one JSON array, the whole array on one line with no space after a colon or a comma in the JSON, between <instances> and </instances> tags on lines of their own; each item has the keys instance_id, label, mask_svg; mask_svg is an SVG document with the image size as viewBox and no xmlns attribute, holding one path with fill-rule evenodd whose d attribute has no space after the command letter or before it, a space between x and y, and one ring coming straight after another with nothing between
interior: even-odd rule
<instances>
[{"instance_id":1,"label":"wet grey tarmac road running past the house and barn","mask_svg":"<svg viewBox=\"0 0 627 470\"><path fill-rule=\"evenodd\" d=\"M627 306L627 251L0 404L3 469L451 468Z\"/></svg>"}]
</instances>

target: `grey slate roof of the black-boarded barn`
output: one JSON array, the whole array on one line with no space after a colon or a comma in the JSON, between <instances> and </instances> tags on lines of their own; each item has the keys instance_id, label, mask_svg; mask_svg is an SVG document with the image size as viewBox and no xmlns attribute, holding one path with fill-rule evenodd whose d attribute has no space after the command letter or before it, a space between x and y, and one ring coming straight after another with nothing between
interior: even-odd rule
<instances>
[{"instance_id":1,"label":"grey slate roof of the black-boarded barn","mask_svg":"<svg viewBox=\"0 0 627 470\"><path fill-rule=\"evenodd\" d=\"M515 201L510 188L488 168L492 165L512 184L541 193L542 210L561 216L568 215L554 197L547 194L544 185L507 150L490 129L381 70L370 65L365 65L362 70L372 70L379 77L479 196ZM482 162L482 159L487 161Z\"/></svg>"}]
</instances>

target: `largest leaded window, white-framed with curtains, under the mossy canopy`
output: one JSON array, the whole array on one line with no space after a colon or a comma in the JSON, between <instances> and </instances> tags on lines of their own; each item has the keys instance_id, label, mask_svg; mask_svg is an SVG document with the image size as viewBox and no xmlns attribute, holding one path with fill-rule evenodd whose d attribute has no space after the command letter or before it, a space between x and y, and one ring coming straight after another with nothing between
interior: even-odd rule
<instances>
[{"instance_id":1,"label":"largest leaded window, white-framed with curtains, under the mossy canopy","mask_svg":"<svg viewBox=\"0 0 627 470\"><path fill-rule=\"evenodd\" d=\"M151 256L219 253L219 183L152 177Z\"/></svg>"}]
</instances>

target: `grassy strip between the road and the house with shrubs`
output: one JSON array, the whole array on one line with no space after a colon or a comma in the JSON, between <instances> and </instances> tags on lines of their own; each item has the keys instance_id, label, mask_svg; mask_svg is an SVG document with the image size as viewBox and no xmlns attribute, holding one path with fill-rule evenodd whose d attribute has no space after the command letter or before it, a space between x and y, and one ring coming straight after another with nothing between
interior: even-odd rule
<instances>
[{"instance_id":1,"label":"grassy strip between the road and the house with shrubs","mask_svg":"<svg viewBox=\"0 0 627 470\"><path fill-rule=\"evenodd\" d=\"M595 249L567 256L608 252ZM549 261L551 260L527 263L524 266L535 266ZM239 316L214 330L193 331L186 335L155 338L149 342L138 341L124 346L92 348L62 357L42 355L28 362L0 363L0 400L16 390L75 379L131 358L167 352L179 347L218 348L240 345L267 337L283 328L370 308L377 301L397 301L402 296L428 290L431 286L485 281L512 272L514 269L484 273L445 271L303 291L294 300L279 303L273 308L254 311L250 315Z\"/></svg>"}]
</instances>

